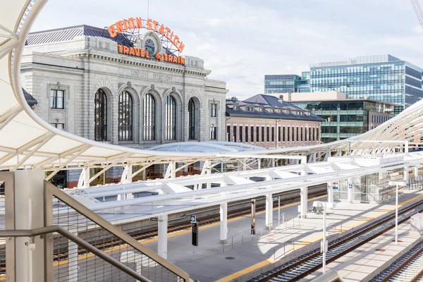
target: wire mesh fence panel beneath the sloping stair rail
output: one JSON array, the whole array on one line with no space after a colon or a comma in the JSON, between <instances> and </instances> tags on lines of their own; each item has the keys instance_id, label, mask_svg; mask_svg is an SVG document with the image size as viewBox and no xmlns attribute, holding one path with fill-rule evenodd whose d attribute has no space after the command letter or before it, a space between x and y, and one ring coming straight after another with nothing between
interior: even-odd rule
<instances>
[{"instance_id":1,"label":"wire mesh fence panel beneath the sloping stair rail","mask_svg":"<svg viewBox=\"0 0 423 282\"><path fill-rule=\"evenodd\" d=\"M57 198L54 198L53 213L54 225L77 235L150 281L185 281ZM136 281L59 234L53 240L54 281Z\"/></svg>"}]
</instances>

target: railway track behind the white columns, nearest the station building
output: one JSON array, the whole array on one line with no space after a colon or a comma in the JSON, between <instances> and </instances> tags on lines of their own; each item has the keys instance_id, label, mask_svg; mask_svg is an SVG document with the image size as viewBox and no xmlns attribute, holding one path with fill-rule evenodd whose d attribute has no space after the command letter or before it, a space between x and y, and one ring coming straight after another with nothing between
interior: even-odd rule
<instances>
[{"instance_id":1,"label":"railway track behind the white columns, nearest the station building","mask_svg":"<svg viewBox=\"0 0 423 282\"><path fill-rule=\"evenodd\" d=\"M275 197L277 197L278 195L284 195L286 193L281 193L281 194L276 194ZM313 191L313 192L309 192L308 193L308 197L309 198L313 198L313 197L319 197L319 196L323 196L327 194L327 190L326 188L324 190L317 190L317 191ZM300 201L300 195L298 196L293 196L293 197L286 197L285 199L281 198L281 207L286 206L287 204L293 204L295 202L299 202ZM274 207L278 207L278 202L274 201ZM257 212L261 212L264 211L266 209L266 204L257 204L256 206L256 211ZM235 217L238 216L245 216L247 214L250 214L251 212L251 208L250 207L245 207L245 208L240 208L240 209L234 209L232 211L228 212L228 219L233 219ZM219 222L220 221L220 214L216 213L216 214L212 214L210 216L204 216L201 218L197 218L198 223L200 224L200 226L204 226L210 223L215 223L215 222ZM191 223L190 221L185 221L182 223L176 223L173 225L168 226L168 233L175 233L178 231L184 231L184 230L188 230L191 228ZM123 229L123 231L125 231ZM133 238L135 238L136 240L148 240L151 238L155 238L157 237L158 233L157 233L157 226L155 226L154 228L148 228L148 229L144 229L142 231L131 231L128 232L128 235L131 235ZM95 236L93 236L95 237ZM102 238L101 240L96 240L97 238L93 239L90 238L90 236L82 238L84 240L86 240L87 242L89 242L91 245L93 245L94 247L97 247L97 249L99 250L109 250L113 247L118 247L121 246L121 240L118 238L109 238L109 239L104 239ZM55 239L56 240L56 239ZM78 255L87 255L87 252L83 249L79 249L78 250ZM68 259L68 243L63 242L63 243L56 243L54 246L54 262L61 262L63 260ZM0 275L4 274L6 271L6 259L4 259L4 257L0 257Z\"/></svg>"}]
</instances>

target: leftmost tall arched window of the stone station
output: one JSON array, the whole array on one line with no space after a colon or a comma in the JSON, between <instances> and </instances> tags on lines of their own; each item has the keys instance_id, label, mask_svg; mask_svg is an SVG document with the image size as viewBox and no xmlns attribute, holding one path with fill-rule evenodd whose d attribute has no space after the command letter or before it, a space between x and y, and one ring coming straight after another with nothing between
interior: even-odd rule
<instances>
[{"instance_id":1,"label":"leftmost tall arched window of the stone station","mask_svg":"<svg viewBox=\"0 0 423 282\"><path fill-rule=\"evenodd\" d=\"M94 138L96 141L107 140L107 97L103 90L95 93L95 128Z\"/></svg>"}]
</instances>

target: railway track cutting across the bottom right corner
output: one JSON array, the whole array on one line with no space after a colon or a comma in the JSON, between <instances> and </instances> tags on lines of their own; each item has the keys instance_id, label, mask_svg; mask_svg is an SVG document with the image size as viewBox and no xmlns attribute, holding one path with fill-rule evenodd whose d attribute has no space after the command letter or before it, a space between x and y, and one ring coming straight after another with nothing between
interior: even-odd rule
<instances>
[{"instance_id":1,"label":"railway track cutting across the bottom right corner","mask_svg":"<svg viewBox=\"0 0 423 282\"><path fill-rule=\"evenodd\" d=\"M423 281L423 242L397 259L369 282Z\"/></svg>"}]
</instances>

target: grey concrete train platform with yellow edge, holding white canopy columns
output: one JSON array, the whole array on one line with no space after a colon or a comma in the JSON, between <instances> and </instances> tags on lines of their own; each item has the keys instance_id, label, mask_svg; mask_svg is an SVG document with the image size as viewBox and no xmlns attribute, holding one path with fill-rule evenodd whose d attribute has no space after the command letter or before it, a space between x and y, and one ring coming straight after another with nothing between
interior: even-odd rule
<instances>
[{"instance_id":1,"label":"grey concrete train platform with yellow edge, holding white canopy columns","mask_svg":"<svg viewBox=\"0 0 423 282\"><path fill-rule=\"evenodd\" d=\"M421 197L423 192L406 190L400 195L400 204L407 204ZM308 209L312 209L314 200L325 202L326 197L310 199ZM340 233L357 228L393 209L395 199L382 204L340 202L326 214L326 224L332 233ZM277 227L278 209L274 209L275 224L272 232L268 234L263 228L262 232L266 235L254 240L251 240L250 216L228 220L228 242L225 245L219 240L219 223L200 227L200 245L196 248L191 245L191 231L169 234L168 260L201 282L247 281L275 261L283 260L293 250L304 247L314 249L314 245L310 244L321 240L321 214L309 213L307 219L298 219L298 204L281 207L281 213L289 219L287 223ZM257 213L257 232L259 226L265 226L264 212ZM143 243L157 252L157 239Z\"/></svg>"}]
</instances>

